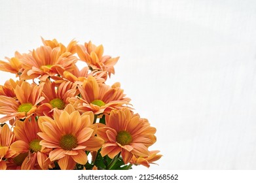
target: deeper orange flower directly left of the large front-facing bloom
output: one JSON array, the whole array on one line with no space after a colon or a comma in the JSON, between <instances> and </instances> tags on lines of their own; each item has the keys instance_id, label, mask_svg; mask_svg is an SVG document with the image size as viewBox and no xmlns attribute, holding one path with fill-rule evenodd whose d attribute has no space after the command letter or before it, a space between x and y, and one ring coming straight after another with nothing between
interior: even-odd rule
<instances>
[{"instance_id":1,"label":"deeper orange flower directly left of the large front-facing bloom","mask_svg":"<svg viewBox=\"0 0 256 183\"><path fill-rule=\"evenodd\" d=\"M21 164L21 169L48 169L48 153L50 149L41 146L41 138L37 133L41 131L35 118L26 119L24 122L17 121L14 127L16 141L10 145L10 149L21 154L23 161L14 162ZM25 156L27 155L27 156Z\"/></svg>"}]
</instances>

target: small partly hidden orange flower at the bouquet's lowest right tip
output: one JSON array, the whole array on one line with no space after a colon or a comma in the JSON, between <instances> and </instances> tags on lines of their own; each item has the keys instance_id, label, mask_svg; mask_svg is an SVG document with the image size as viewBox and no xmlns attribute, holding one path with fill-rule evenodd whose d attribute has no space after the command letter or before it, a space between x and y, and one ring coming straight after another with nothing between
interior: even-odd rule
<instances>
[{"instance_id":1,"label":"small partly hidden orange flower at the bouquet's lowest right tip","mask_svg":"<svg viewBox=\"0 0 256 183\"><path fill-rule=\"evenodd\" d=\"M157 161L158 159L160 159L162 157L162 155L158 154L158 152L160 152L160 151L159 150L150 151L148 157L139 156L138 158L136 158L136 156L133 156L130 163L135 164L135 165L143 165L143 166L149 168L149 166L150 166L149 163L156 164L153 162Z\"/></svg>"}]
</instances>

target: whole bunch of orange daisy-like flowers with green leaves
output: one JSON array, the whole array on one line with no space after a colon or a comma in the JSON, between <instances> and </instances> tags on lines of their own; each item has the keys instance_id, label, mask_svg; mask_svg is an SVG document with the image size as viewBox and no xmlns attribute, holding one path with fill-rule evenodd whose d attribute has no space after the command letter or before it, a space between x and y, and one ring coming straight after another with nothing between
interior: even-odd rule
<instances>
[{"instance_id":1,"label":"whole bunch of orange daisy-like flowers with green leaves","mask_svg":"<svg viewBox=\"0 0 256 183\"><path fill-rule=\"evenodd\" d=\"M161 158L156 129L134 114L103 46L56 39L0 61L0 169L131 169ZM88 66L79 70L76 63Z\"/></svg>"}]
</instances>

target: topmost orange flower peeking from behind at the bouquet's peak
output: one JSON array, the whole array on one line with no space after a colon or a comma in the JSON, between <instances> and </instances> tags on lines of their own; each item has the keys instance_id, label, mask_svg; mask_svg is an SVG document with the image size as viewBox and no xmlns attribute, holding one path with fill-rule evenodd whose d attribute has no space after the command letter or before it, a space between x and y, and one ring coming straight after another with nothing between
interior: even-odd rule
<instances>
[{"instance_id":1,"label":"topmost orange flower peeking from behind at the bouquet's peak","mask_svg":"<svg viewBox=\"0 0 256 183\"><path fill-rule=\"evenodd\" d=\"M77 52L77 48L76 48L77 41L75 40L70 41L67 47L65 47L64 44L62 44L61 42L58 42L56 39L52 39L52 41L45 40L43 39L43 37L41 37L41 39L45 46L50 46L52 49L56 47L60 47L60 50L62 51L62 53L70 52L71 54L75 54L75 52Z\"/></svg>"}]
</instances>

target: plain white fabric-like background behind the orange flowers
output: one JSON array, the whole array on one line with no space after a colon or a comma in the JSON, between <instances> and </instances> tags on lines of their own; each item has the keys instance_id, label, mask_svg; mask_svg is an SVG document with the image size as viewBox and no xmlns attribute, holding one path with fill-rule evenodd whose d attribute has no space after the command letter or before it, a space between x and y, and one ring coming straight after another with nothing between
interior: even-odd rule
<instances>
[{"instance_id":1,"label":"plain white fabric-like background behind the orange flowers","mask_svg":"<svg viewBox=\"0 0 256 183\"><path fill-rule=\"evenodd\" d=\"M41 36L120 56L108 84L157 128L151 169L256 169L256 1L0 0L0 59Z\"/></svg>"}]
</instances>

